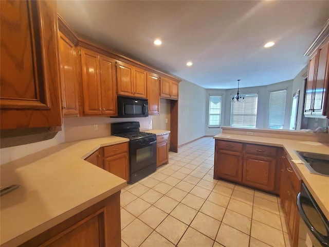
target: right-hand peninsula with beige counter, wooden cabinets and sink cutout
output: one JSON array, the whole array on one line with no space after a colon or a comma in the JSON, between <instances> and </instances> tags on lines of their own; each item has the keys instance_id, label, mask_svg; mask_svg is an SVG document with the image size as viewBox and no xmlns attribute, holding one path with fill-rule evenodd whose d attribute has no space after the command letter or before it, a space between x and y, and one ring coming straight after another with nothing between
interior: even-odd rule
<instances>
[{"instance_id":1,"label":"right-hand peninsula with beige counter, wooden cabinets and sink cutout","mask_svg":"<svg viewBox=\"0 0 329 247\"><path fill-rule=\"evenodd\" d=\"M304 183L329 218L329 177L310 173L295 151L329 154L328 133L222 127L215 135L214 179L280 196L291 246L298 242L296 198Z\"/></svg>"}]
</instances>

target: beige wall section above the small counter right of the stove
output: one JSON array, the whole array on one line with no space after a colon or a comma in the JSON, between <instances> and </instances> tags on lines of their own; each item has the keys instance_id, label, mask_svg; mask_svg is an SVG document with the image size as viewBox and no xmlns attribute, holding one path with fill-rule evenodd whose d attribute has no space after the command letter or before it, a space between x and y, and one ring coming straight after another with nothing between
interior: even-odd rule
<instances>
[{"instance_id":1,"label":"beige wall section above the small counter right of the stove","mask_svg":"<svg viewBox=\"0 0 329 247\"><path fill-rule=\"evenodd\" d=\"M160 99L160 115L154 115L153 129L154 130L170 130L170 100ZM168 122L166 123L166 119Z\"/></svg>"}]
</instances>

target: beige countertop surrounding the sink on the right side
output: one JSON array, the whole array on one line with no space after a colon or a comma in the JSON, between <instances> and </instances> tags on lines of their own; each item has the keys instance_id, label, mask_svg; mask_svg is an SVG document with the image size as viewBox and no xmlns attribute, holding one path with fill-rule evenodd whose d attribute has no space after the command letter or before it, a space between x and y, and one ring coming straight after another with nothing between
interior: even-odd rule
<instances>
[{"instance_id":1,"label":"beige countertop surrounding the sink on the right side","mask_svg":"<svg viewBox=\"0 0 329 247\"><path fill-rule=\"evenodd\" d=\"M269 138L240 134L223 133L214 136L215 139L230 140L268 146L283 147L290 160L300 160L295 150L314 153L329 154L329 144L308 142L305 140L293 140L282 138ZM329 219L329 177L310 173L303 164L293 163L303 182L306 184L312 196L319 204L327 219Z\"/></svg>"}]
</instances>

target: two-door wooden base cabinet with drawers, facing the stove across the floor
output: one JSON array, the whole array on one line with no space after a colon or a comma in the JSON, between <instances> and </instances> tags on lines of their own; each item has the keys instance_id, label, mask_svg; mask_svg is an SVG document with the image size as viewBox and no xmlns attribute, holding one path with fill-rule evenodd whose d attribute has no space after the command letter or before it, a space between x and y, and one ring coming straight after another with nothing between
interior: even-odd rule
<instances>
[{"instance_id":1,"label":"two-door wooden base cabinet with drawers, facing the stove across the floor","mask_svg":"<svg viewBox=\"0 0 329 247\"><path fill-rule=\"evenodd\" d=\"M272 193L279 193L276 147L215 141L214 179L251 186Z\"/></svg>"}]
</instances>

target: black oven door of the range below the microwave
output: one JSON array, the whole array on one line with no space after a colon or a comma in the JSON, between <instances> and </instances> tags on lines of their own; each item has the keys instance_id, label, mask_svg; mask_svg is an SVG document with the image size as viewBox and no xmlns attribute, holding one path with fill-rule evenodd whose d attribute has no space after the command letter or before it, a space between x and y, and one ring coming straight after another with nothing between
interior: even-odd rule
<instances>
[{"instance_id":1,"label":"black oven door of the range below the microwave","mask_svg":"<svg viewBox=\"0 0 329 247\"><path fill-rule=\"evenodd\" d=\"M156 165L156 140L130 146L130 173Z\"/></svg>"}]
</instances>

